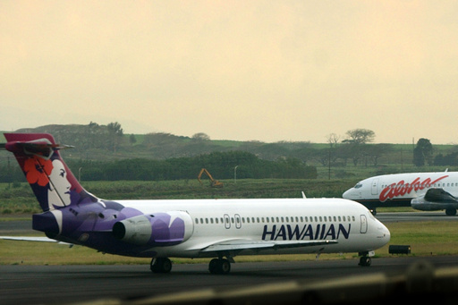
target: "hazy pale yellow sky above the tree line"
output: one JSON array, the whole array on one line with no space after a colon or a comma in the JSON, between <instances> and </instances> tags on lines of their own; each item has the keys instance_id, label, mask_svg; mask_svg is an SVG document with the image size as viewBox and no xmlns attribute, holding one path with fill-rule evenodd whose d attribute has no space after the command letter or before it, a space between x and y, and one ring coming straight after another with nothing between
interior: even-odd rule
<instances>
[{"instance_id":1,"label":"hazy pale yellow sky above the tree line","mask_svg":"<svg viewBox=\"0 0 458 305\"><path fill-rule=\"evenodd\" d=\"M0 130L458 143L457 16L436 0L2 0Z\"/></svg>"}]
</instances>

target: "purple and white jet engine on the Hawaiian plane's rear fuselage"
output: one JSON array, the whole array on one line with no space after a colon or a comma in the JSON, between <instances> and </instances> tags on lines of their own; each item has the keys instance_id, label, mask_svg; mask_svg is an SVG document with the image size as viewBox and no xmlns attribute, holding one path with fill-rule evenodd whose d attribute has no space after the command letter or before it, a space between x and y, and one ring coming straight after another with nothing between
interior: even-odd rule
<instances>
[{"instance_id":1,"label":"purple and white jet engine on the Hawaiian plane's rear fuselage","mask_svg":"<svg viewBox=\"0 0 458 305\"><path fill-rule=\"evenodd\" d=\"M194 230L191 216L182 211L133 216L113 226L114 238L139 246L170 246L187 241Z\"/></svg>"}]
</instances>

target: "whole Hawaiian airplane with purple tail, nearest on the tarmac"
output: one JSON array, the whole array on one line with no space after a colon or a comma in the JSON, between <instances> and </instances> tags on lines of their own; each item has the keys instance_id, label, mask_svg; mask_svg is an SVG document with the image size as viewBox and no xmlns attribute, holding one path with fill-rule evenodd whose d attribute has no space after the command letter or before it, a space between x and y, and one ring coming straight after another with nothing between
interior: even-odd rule
<instances>
[{"instance_id":1,"label":"whole Hawaiian airplane with purple tail, nearest on the tarmac","mask_svg":"<svg viewBox=\"0 0 458 305\"><path fill-rule=\"evenodd\" d=\"M227 274L233 257L250 254L358 252L369 266L390 240L367 208L346 199L99 199L75 179L59 152L68 147L51 135L4 137L43 209L32 216L34 230L52 241L152 258L156 273L170 272L169 258L213 258L210 273Z\"/></svg>"}]
</instances>

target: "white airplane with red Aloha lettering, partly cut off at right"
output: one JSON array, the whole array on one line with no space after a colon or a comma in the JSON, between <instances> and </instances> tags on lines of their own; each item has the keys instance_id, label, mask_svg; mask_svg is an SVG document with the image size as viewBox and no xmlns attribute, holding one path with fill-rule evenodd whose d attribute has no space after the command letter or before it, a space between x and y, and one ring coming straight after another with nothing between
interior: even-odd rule
<instances>
[{"instance_id":1,"label":"white airplane with red Aloha lettering, partly cut off at right","mask_svg":"<svg viewBox=\"0 0 458 305\"><path fill-rule=\"evenodd\" d=\"M458 172L383 174L362 180L344 192L344 199L376 208L410 207L422 211L444 210L456 215Z\"/></svg>"}]
</instances>

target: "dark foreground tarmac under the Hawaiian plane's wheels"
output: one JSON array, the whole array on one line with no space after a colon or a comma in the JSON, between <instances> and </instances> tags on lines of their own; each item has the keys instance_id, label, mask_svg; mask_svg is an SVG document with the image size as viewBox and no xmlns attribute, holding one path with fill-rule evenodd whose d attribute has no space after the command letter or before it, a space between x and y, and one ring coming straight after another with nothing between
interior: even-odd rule
<instances>
[{"instance_id":1,"label":"dark foreground tarmac under the Hawaiian plane's wheels","mask_svg":"<svg viewBox=\"0 0 458 305\"><path fill-rule=\"evenodd\" d=\"M230 275L210 275L207 265L176 265L153 274L148 266L1 266L1 304L69 304L82 301L135 301L145 297L212 289L227 291L296 281L313 284L350 275L404 274L415 261L458 268L457 257L376 258L371 267L358 259L233 264Z\"/></svg>"}]
</instances>

